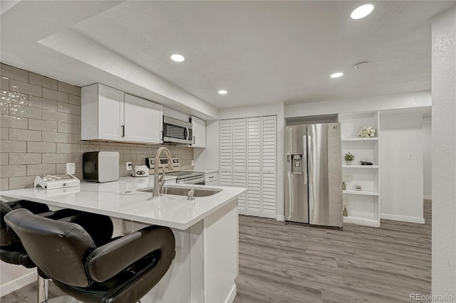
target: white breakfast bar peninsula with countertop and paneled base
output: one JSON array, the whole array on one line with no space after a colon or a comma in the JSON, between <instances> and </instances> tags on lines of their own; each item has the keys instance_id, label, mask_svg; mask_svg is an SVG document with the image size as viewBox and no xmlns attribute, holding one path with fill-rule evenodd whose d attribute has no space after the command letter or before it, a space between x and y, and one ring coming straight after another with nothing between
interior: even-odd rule
<instances>
[{"instance_id":1,"label":"white breakfast bar peninsula with countertop and paneled base","mask_svg":"<svg viewBox=\"0 0 456 303\"><path fill-rule=\"evenodd\" d=\"M170 227L176 239L175 260L141 302L232 302L238 274L237 198L247 188L165 184L165 194L152 197L152 186L153 176L123 177L70 188L1 191L0 195L108 215L119 234L145 225ZM192 188L195 200L188 200Z\"/></svg>"}]
</instances>

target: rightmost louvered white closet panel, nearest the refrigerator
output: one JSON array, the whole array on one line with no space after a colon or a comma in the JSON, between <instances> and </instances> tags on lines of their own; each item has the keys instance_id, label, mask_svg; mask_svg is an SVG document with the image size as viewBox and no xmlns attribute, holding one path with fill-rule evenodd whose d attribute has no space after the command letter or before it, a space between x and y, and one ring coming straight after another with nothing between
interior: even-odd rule
<instances>
[{"instance_id":1,"label":"rightmost louvered white closet panel, nearest the refrigerator","mask_svg":"<svg viewBox=\"0 0 456 303\"><path fill-rule=\"evenodd\" d=\"M276 116L262 117L261 216L276 218Z\"/></svg>"}]
</instances>

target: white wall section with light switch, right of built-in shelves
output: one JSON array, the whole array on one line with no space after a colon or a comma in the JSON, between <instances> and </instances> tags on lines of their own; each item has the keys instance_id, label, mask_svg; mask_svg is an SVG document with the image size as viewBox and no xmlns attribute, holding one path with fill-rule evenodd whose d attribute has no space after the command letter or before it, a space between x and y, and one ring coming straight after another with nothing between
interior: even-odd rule
<instances>
[{"instance_id":1,"label":"white wall section with light switch, right of built-in shelves","mask_svg":"<svg viewBox=\"0 0 456 303\"><path fill-rule=\"evenodd\" d=\"M425 223L423 115L380 115L381 218ZM413 159L408 159L413 153Z\"/></svg>"}]
</instances>

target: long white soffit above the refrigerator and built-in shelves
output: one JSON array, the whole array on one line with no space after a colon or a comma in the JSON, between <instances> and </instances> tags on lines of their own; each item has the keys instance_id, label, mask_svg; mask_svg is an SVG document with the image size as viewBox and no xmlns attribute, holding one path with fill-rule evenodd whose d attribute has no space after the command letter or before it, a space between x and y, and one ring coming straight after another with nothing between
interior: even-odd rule
<instances>
[{"instance_id":1,"label":"long white soffit above the refrigerator and built-in shelves","mask_svg":"<svg viewBox=\"0 0 456 303\"><path fill-rule=\"evenodd\" d=\"M380 95L351 100L331 100L286 105L284 117L305 117L315 115L339 114L342 112L368 112L373 110L396 110L415 107L430 107L430 90L407 92L394 95Z\"/></svg>"}]
</instances>

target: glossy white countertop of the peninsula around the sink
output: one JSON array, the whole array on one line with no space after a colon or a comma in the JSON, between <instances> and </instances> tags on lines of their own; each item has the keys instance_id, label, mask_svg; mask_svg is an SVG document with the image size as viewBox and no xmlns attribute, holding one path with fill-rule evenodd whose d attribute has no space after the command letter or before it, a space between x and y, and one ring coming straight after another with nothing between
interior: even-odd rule
<instances>
[{"instance_id":1,"label":"glossy white countertop of the peninsula around the sink","mask_svg":"<svg viewBox=\"0 0 456 303\"><path fill-rule=\"evenodd\" d=\"M247 188L172 185L189 190L192 187L222 189L212 196L197 197L195 201L188 201L186 196L152 197L152 193L137 191L152 186L153 176L122 177L118 181L106 183L81 182L81 186L70 188L45 190L38 187L0 191L0 196L185 230L247 191Z\"/></svg>"}]
</instances>

